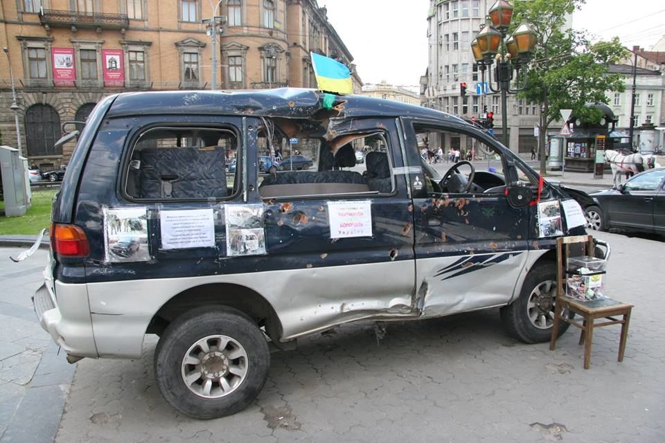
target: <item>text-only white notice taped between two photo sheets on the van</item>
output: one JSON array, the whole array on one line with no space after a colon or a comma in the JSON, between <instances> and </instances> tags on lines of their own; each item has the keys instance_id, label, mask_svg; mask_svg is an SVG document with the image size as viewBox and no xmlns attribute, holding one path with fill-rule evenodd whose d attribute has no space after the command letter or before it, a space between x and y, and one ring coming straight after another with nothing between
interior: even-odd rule
<instances>
[{"instance_id":1,"label":"text-only white notice taped between two photo sheets on the van","mask_svg":"<svg viewBox=\"0 0 665 443\"><path fill-rule=\"evenodd\" d=\"M213 210L163 210L159 213L162 249L214 248Z\"/></svg>"}]
</instances>

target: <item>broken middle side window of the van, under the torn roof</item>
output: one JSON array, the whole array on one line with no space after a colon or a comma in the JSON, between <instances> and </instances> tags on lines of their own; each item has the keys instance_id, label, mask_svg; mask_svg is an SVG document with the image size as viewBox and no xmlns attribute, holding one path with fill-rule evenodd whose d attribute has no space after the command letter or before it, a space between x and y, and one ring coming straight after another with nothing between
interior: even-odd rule
<instances>
[{"instance_id":1,"label":"broken middle side window of the van, under the torn roof","mask_svg":"<svg viewBox=\"0 0 665 443\"><path fill-rule=\"evenodd\" d=\"M268 121L258 138L259 193L264 198L390 194L394 179L386 140L381 133L326 140L291 122Z\"/></svg>"}]
</instances>

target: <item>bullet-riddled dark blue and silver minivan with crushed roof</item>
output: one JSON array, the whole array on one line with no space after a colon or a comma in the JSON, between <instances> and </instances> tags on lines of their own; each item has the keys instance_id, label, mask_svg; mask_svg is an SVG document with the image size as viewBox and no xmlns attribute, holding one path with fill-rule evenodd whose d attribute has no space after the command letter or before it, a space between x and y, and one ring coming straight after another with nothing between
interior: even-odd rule
<instances>
[{"instance_id":1,"label":"bullet-riddled dark blue and silver minivan with crushed roof","mask_svg":"<svg viewBox=\"0 0 665 443\"><path fill-rule=\"evenodd\" d=\"M420 156L459 146L499 172L460 161L439 177ZM501 307L510 334L549 340L556 237L585 233L569 202L432 109L308 89L123 93L69 162L35 309L72 362L138 359L157 334L166 400L221 417L261 390L270 348L353 320Z\"/></svg>"}]
</instances>

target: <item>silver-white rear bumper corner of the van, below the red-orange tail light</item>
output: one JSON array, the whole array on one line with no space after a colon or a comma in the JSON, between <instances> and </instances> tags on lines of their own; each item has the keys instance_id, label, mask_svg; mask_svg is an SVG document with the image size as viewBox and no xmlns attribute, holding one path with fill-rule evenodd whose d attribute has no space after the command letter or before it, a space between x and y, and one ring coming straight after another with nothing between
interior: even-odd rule
<instances>
[{"instance_id":1,"label":"silver-white rear bumper corner of the van, below the red-orange tail light","mask_svg":"<svg viewBox=\"0 0 665 443\"><path fill-rule=\"evenodd\" d=\"M51 283L46 276L33 296L39 325L68 355L97 357L85 284Z\"/></svg>"}]
</instances>

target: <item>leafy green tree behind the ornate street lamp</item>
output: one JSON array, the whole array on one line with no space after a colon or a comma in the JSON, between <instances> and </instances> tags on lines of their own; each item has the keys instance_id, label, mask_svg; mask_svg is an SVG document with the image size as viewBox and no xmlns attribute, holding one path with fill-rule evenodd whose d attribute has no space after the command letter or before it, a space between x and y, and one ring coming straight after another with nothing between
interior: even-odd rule
<instances>
[{"instance_id":1,"label":"leafy green tree behind the ornate street lamp","mask_svg":"<svg viewBox=\"0 0 665 443\"><path fill-rule=\"evenodd\" d=\"M598 121L600 111L587 102L607 103L607 91L623 91L621 75L610 74L608 65L619 62L626 49L619 39L592 42L584 32L566 28L567 16L585 0L515 1L513 29L522 19L539 35L529 67L526 89L520 98L540 105L538 152L540 173L546 172L547 127L560 118L560 109L572 109L585 122Z\"/></svg>"}]
</instances>

